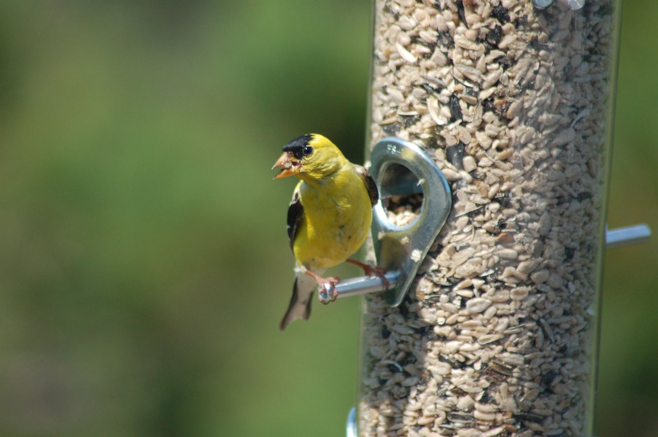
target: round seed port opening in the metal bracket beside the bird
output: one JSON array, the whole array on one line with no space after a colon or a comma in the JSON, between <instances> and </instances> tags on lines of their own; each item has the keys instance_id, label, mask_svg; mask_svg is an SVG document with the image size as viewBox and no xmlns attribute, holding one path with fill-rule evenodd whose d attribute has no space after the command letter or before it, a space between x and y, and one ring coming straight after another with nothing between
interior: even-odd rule
<instances>
[{"instance_id":1,"label":"round seed port opening in the metal bracket beside the bird","mask_svg":"<svg viewBox=\"0 0 658 437\"><path fill-rule=\"evenodd\" d=\"M414 223L423 202L423 187L418 176L403 164L384 168L381 183L382 207L393 225L405 227Z\"/></svg>"}]
</instances>

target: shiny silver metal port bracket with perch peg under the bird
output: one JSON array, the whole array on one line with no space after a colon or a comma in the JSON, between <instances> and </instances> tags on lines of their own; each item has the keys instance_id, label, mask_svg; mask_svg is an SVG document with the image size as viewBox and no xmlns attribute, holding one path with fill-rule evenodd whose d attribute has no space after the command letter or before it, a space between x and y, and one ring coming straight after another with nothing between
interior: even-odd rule
<instances>
[{"instance_id":1,"label":"shiny silver metal port bracket with perch peg under the bird","mask_svg":"<svg viewBox=\"0 0 658 437\"><path fill-rule=\"evenodd\" d=\"M380 200L372 212L372 240L377 265L389 281L384 299L398 306L404 299L418 267L443 227L452 206L450 188L443 173L424 150L398 138L379 141L370 154L370 175L379 188ZM392 196L422 194L418 216L398 226L388 218L385 204ZM357 277L336 285L338 297L384 290L378 277ZM320 300L329 290L320 289Z\"/></svg>"}]
</instances>

